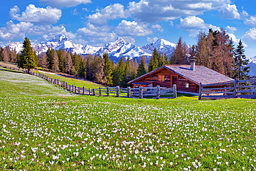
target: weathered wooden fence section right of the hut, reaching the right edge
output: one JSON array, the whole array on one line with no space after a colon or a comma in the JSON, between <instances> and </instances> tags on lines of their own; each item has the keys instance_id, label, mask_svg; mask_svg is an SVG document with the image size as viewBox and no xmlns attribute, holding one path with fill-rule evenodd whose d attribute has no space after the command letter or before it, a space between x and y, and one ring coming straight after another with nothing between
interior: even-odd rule
<instances>
[{"instance_id":1,"label":"weathered wooden fence section right of the hut, reaching the right edge","mask_svg":"<svg viewBox=\"0 0 256 171\"><path fill-rule=\"evenodd\" d=\"M205 84L200 83L199 100L202 98L223 99L223 98L247 98L256 99L256 79L237 80L227 83ZM216 87L216 88L209 88Z\"/></svg>"}]
</instances>

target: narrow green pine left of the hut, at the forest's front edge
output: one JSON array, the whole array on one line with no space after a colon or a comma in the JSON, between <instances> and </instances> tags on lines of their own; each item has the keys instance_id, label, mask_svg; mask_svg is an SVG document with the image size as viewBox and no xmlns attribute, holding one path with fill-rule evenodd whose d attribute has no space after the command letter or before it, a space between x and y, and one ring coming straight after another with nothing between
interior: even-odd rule
<instances>
[{"instance_id":1,"label":"narrow green pine left of the hut, at the forest's front edge","mask_svg":"<svg viewBox=\"0 0 256 171\"><path fill-rule=\"evenodd\" d=\"M104 53L103 54L104 59L104 82L107 84L107 86L113 85L113 66L111 61L109 60L109 54Z\"/></svg>"}]
</instances>

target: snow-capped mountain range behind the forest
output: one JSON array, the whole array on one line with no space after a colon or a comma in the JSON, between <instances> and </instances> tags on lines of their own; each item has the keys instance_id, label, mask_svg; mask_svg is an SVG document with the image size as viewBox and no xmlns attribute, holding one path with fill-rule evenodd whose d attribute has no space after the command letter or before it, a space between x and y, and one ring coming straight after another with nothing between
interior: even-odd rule
<instances>
[{"instance_id":1,"label":"snow-capped mountain range behind the forest","mask_svg":"<svg viewBox=\"0 0 256 171\"><path fill-rule=\"evenodd\" d=\"M11 50L16 50L16 52L20 52L22 50L22 46L23 44L19 42L12 42L8 45ZM89 45L82 46L81 44L73 43L73 41L69 40L64 34L55 36L51 41L38 43L33 46L37 54L46 52L48 48L53 48L54 50L63 49L67 52L76 52L77 54L82 55L102 55L104 52L107 52L109 54L109 59L115 62L118 62L121 57L124 57L125 59L137 59L137 61L139 61L143 55L146 60L149 61L155 48L158 52L170 57L172 52L174 52L175 47L175 43L171 43L165 39L158 39L156 42L138 47L132 43L126 42L122 37L118 37L116 41L106 43L102 47L93 47ZM256 56L250 58L248 66L250 66L249 74L252 76L256 75Z\"/></svg>"}]
</instances>

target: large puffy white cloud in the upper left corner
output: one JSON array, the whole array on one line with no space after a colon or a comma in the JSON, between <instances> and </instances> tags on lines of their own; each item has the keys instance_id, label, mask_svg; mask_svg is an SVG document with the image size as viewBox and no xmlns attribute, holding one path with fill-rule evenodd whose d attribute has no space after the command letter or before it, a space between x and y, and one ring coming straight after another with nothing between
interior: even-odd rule
<instances>
[{"instance_id":1,"label":"large puffy white cloud in the upper left corner","mask_svg":"<svg viewBox=\"0 0 256 171\"><path fill-rule=\"evenodd\" d=\"M30 4L26 7L26 10L21 14L18 14L19 7L15 6L10 9L10 18L17 19L22 22L37 23L41 25L57 23L62 17L62 10L57 8L36 8L35 5Z\"/></svg>"}]
</instances>

